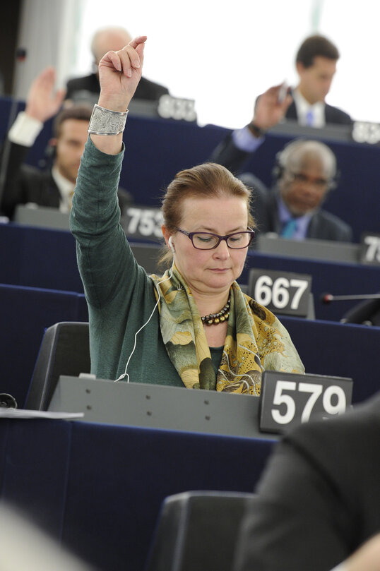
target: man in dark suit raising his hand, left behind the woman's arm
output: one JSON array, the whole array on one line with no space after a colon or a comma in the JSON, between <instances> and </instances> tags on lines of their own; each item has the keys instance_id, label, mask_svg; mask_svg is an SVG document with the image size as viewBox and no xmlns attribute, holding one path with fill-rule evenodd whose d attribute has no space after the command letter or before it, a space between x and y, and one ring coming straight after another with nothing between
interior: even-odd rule
<instances>
[{"instance_id":1,"label":"man in dark suit raising his hand, left behind the woman's arm","mask_svg":"<svg viewBox=\"0 0 380 571\"><path fill-rule=\"evenodd\" d=\"M64 90L54 92L54 83L55 72L51 67L35 78L28 92L25 112L18 114L1 151L5 176L0 210L10 220L18 204L32 203L58 208L66 213L71 208L92 109L88 105L73 105L61 109L57 114ZM47 150L50 155L47 168L39 169L25 164L28 151L45 121L54 116L53 138ZM131 203L131 195L120 189L121 210Z\"/></svg>"}]
</instances>

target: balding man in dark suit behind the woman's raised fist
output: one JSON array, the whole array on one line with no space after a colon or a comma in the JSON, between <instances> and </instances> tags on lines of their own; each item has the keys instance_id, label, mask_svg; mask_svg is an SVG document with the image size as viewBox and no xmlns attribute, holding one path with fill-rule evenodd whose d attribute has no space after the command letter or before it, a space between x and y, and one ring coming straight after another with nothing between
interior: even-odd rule
<instances>
[{"instance_id":1,"label":"balding man in dark suit behind the woman's raised fist","mask_svg":"<svg viewBox=\"0 0 380 571\"><path fill-rule=\"evenodd\" d=\"M116 52L126 46L126 44L129 44L131 40L131 35L124 28L110 27L97 30L91 42L95 71L88 76L70 79L66 85L66 99L73 101L88 100L91 103L96 103L100 94L97 65L104 54L110 50ZM163 85L154 83L146 78L141 78L133 100L158 102L161 95L168 94L169 90Z\"/></svg>"}]
</instances>

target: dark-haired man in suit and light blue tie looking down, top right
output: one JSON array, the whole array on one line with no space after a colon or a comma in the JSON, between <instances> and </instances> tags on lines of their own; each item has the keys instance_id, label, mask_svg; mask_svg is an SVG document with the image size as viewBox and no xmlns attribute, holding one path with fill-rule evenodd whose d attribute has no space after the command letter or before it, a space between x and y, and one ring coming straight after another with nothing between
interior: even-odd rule
<instances>
[{"instance_id":1,"label":"dark-haired man in suit and light blue tie looking down, top right","mask_svg":"<svg viewBox=\"0 0 380 571\"><path fill-rule=\"evenodd\" d=\"M295 61L299 83L292 90L293 101L285 119L314 127L352 124L350 115L325 102L338 59L337 47L326 37L313 35L302 42Z\"/></svg>"}]
</instances>

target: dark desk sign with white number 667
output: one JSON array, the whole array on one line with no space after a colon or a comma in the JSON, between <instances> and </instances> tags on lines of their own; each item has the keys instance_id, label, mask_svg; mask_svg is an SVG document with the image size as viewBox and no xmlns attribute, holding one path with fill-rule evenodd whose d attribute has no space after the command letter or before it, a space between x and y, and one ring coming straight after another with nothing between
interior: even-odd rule
<instances>
[{"instance_id":1,"label":"dark desk sign with white number 667","mask_svg":"<svg viewBox=\"0 0 380 571\"><path fill-rule=\"evenodd\" d=\"M306 317L310 289L311 275L261 268L249 272L249 295L273 313Z\"/></svg>"}]
</instances>

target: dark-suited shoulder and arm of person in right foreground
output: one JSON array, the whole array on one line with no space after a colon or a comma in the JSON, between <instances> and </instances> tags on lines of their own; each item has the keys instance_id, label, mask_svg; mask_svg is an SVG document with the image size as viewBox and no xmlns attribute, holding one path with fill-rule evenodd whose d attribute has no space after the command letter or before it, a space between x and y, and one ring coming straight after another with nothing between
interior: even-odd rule
<instances>
[{"instance_id":1,"label":"dark-suited shoulder and arm of person in right foreground","mask_svg":"<svg viewBox=\"0 0 380 571\"><path fill-rule=\"evenodd\" d=\"M379 534L379 435L380 393L285 435L256 487L234 571L330 571Z\"/></svg>"}]
</instances>

